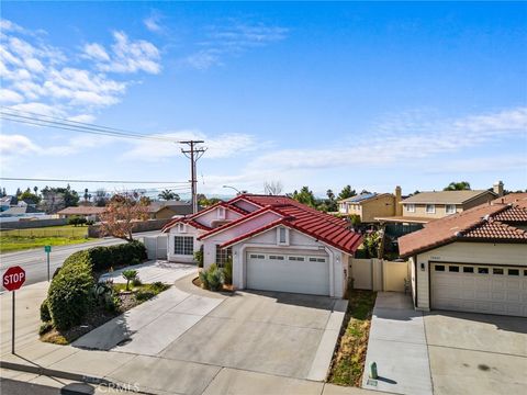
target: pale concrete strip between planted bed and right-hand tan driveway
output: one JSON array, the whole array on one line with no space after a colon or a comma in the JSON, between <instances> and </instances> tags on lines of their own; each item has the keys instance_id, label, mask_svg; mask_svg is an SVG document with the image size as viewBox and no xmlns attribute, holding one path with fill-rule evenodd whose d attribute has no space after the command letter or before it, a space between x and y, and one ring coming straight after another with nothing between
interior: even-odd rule
<instances>
[{"instance_id":1,"label":"pale concrete strip between planted bed and right-hand tan driveway","mask_svg":"<svg viewBox=\"0 0 527 395\"><path fill-rule=\"evenodd\" d=\"M378 380L368 379L377 362ZM423 313L408 295L379 292L371 320L362 387L399 394L431 394Z\"/></svg>"}]
</instances>

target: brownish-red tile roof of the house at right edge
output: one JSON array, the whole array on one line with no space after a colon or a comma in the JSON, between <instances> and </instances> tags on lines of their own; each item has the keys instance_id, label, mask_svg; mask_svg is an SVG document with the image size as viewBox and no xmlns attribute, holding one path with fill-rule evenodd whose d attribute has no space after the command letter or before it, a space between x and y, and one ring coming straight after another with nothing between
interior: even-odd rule
<instances>
[{"instance_id":1,"label":"brownish-red tile roof of the house at right edge","mask_svg":"<svg viewBox=\"0 0 527 395\"><path fill-rule=\"evenodd\" d=\"M424 229L399 238L402 257L453 241L527 242L527 232L513 224L527 224L527 211L513 204L483 204L430 222Z\"/></svg>"}]
</instances>

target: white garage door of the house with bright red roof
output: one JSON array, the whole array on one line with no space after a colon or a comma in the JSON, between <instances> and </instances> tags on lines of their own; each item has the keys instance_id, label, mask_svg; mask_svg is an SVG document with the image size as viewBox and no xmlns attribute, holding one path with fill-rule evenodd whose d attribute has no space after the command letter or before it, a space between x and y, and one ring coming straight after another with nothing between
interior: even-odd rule
<instances>
[{"instance_id":1,"label":"white garage door of the house with bright red roof","mask_svg":"<svg viewBox=\"0 0 527 395\"><path fill-rule=\"evenodd\" d=\"M329 295L329 266L325 257L248 252L247 287Z\"/></svg>"}]
</instances>

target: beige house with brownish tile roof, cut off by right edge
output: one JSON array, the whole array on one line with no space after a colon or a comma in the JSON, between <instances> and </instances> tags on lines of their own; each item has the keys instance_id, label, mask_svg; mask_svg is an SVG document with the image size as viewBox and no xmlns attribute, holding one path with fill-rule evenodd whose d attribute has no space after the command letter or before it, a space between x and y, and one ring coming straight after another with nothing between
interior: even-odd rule
<instances>
[{"instance_id":1,"label":"beige house with brownish tile roof, cut off by right edge","mask_svg":"<svg viewBox=\"0 0 527 395\"><path fill-rule=\"evenodd\" d=\"M503 199L399 239L417 309L527 317L527 193Z\"/></svg>"}]
</instances>

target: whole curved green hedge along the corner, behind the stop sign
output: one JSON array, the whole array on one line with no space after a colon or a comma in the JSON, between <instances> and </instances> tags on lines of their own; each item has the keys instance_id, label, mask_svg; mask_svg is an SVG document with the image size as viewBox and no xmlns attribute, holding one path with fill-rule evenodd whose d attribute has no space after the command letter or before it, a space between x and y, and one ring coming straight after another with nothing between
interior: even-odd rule
<instances>
[{"instance_id":1,"label":"whole curved green hedge along the corner, behind the stop sign","mask_svg":"<svg viewBox=\"0 0 527 395\"><path fill-rule=\"evenodd\" d=\"M58 272L55 272L47 293L46 309L55 328L65 330L82 321L92 307L90 293L96 284L94 273L115 266L138 263L147 258L141 241L109 247L94 247L70 255ZM43 303L43 304L44 304Z\"/></svg>"}]
</instances>

